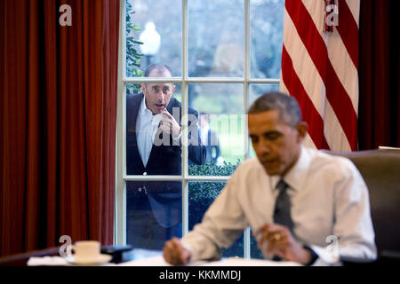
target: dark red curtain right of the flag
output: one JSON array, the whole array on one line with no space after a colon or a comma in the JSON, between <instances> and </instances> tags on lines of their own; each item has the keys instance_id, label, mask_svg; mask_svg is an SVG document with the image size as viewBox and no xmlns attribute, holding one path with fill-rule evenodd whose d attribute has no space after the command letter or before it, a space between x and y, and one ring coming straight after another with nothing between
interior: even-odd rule
<instances>
[{"instance_id":1,"label":"dark red curtain right of the flag","mask_svg":"<svg viewBox=\"0 0 400 284\"><path fill-rule=\"evenodd\" d=\"M363 0L360 11L360 150L400 147L398 0Z\"/></svg>"}]
</instances>

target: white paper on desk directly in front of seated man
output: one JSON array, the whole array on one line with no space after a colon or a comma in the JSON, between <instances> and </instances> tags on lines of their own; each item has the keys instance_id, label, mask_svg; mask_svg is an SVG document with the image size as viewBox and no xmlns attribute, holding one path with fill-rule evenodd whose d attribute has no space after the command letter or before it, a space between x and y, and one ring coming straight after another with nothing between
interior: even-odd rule
<instances>
[{"instance_id":1,"label":"white paper on desk directly in front of seated man","mask_svg":"<svg viewBox=\"0 0 400 284\"><path fill-rule=\"evenodd\" d=\"M228 257L219 261L202 264L203 266L302 266L292 261L272 261L267 259L247 259Z\"/></svg>"}]
</instances>

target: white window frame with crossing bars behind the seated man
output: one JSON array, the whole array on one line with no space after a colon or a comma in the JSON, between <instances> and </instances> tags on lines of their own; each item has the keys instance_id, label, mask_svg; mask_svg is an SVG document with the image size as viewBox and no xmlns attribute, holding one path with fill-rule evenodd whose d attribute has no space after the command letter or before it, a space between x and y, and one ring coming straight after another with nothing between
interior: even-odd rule
<instances>
[{"instance_id":1,"label":"white window frame with crossing bars behind the seated man","mask_svg":"<svg viewBox=\"0 0 400 284\"><path fill-rule=\"evenodd\" d=\"M182 104L182 125L188 125L188 84L189 83L241 83L243 85L244 114L247 112L249 88L252 83L279 84L279 79L253 79L250 75L250 1L244 0L244 76L243 77L189 77L188 76L188 0L182 2L182 75L173 78L126 77L125 58L125 0L120 0L120 31L118 54L118 97L116 120L116 203L115 231L116 245L126 244L126 187L127 181L177 180L182 183L182 233L188 233L188 182L228 181L230 176L189 176L188 175L188 128L182 127L182 170L177 176L131 176L126 175L126 84L127 83L180 83ZM244 160L249 158L250 140L244 123ZM244 258L250 258L250 228L244 230Z\"/></svg>"}]
</instances>

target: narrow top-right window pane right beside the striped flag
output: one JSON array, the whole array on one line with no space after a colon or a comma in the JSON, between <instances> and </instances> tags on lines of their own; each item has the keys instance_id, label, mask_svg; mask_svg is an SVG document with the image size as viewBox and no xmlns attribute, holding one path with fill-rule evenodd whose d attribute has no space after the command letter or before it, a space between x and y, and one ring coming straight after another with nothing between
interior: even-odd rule
<instances>
[{"instance_id":1,"label":"narrow top-right window pane right beside the striped flag","mask_svg":"<svg viewBox=\"0 0 400 284\"><path fill-rule=\"evenodd\" d=\"M252 0L252 78L279 78L284 43L284 0Z\"/></svg>"}]
</instances>

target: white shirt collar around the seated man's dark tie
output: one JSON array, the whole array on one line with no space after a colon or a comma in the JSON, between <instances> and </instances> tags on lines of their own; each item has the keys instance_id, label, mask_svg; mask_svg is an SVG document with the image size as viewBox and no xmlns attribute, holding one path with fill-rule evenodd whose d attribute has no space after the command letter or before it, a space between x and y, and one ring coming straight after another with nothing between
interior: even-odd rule
<instances>
[{"instance_id":1,"label":"white shirt collar around the seated man's dark tie","mask_svg":"<svg viewBox=\"0 0 400 284\"><path fill-rule=\"evenodd\" d=\"M294 191L299 191L303 185L304 178L306 177L309 163L311 162L311 156L304 146L300 146L300 156L297 162L294 164L291 170L284 176L284 182L292 188ZM275 189L277 183L282 177L272 176L271 185Z\"/></svg>"}]
</instances>

